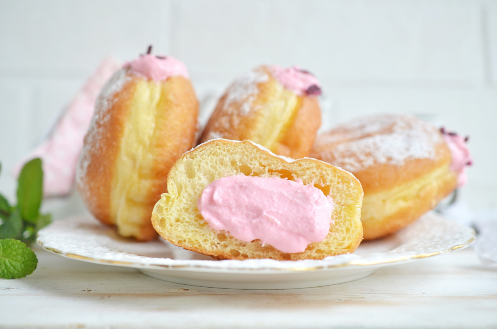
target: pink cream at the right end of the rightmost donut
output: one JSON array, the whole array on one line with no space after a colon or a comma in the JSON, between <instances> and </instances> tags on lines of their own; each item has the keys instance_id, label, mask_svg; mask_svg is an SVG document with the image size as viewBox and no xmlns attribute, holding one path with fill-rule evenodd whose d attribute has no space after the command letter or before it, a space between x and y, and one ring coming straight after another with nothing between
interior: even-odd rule
<instances>
[{"instance_id":1,"label":"pink cream at the right end of the rightmost donut","mask_svg":"<svg viewBox=\"0 0 497 329\"><path fill-rule=\"evenodd\" d=\"M445 138L445 142L449 146L450 152L452 153L450 169L457 173L457 187L461 187L468 181L466 176L466 165L472 165L473 159L471 158L469 149L466 146L464 137L456 134L443 134L443 137Z\"/></svg>"}]
</instances>

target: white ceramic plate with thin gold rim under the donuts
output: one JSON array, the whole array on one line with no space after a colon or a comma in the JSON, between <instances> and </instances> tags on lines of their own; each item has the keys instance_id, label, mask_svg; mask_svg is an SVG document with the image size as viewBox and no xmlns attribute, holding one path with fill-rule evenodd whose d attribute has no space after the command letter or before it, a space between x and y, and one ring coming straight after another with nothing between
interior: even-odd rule
<instances>
[{"instance_id":1,"label":"white ceramic plate with thin gold rim under the donuts","mask_svg":"<svg viewBox=\"0 0 497 329\"><path fill-rule=\"evenodd\" d=\"M214 260L162 240L119 237L91 217L57 221L40 230L37 243L59 255L92 263L134 267L165 281L213 288L291 289L348 282L376 269L469 246L473 229L428 213L404 230L363 242L352 254L322 260Z\"/></svg>"}]
</instances>

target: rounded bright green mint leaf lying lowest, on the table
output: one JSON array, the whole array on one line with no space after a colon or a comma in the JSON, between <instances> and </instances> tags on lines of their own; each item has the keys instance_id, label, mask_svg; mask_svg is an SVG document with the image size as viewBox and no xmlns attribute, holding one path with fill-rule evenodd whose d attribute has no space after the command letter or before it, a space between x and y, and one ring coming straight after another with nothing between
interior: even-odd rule
<instances>
[{"instance_id":1,"label":"rounded bright green mint leaf lying lowest, on the table","mask_svg":"<svg viewBox=\"0 0 497 329\"><path fill-rule=\"evenodd\" d=\"M0 240L0 277L18 279L33 273L38 264L36 254L15 239Z\"/></svg>"}]
</instances>

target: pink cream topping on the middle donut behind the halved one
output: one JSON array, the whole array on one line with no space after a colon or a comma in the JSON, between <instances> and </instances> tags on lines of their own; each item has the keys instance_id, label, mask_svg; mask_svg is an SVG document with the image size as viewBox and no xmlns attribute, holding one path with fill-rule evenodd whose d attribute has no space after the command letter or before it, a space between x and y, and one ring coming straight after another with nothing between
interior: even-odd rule
<instances>
[{"instance_id":1,"label":"pink cream topping on the middle donut behind the halved one","mask_svg":"<svg viewBox=\"0 0 497 329\"><path fill-rule=\"evenodd\" d=\"M285 88L292 90L299 96L321 95L321 86L318 79L298 66L284 69L273 65L269 66L268 69L271 75L283 84Z\"/></svg>"}]
</instances>

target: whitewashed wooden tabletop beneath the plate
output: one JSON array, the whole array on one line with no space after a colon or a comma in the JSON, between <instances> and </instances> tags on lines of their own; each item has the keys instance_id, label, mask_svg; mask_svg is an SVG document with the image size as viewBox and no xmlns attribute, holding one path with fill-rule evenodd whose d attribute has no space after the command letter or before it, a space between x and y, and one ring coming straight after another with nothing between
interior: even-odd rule
<instances>
[{"instance_id":1,"label":"whitewashed wooden tabletop beneath the plate","mask_svg":"<svg viewBox=\"0 0 497 329\"><path fill-rule=\"evenodd\" d=\"M36 271L0 279L0 328L497 328L497 267L472 247L294 290L168 283L34 247Z\"/></svg>"}]
</instances>

